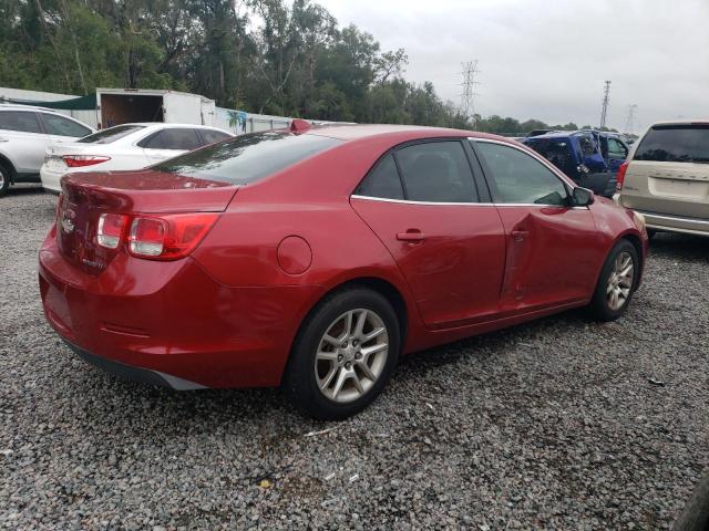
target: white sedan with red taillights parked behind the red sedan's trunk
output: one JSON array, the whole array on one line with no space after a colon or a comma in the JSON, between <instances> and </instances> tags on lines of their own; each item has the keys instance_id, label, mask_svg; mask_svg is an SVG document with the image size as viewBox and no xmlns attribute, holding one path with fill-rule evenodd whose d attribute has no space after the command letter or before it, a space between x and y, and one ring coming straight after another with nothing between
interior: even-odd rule
<instances>
[{"instance_id":1,"label":"white sedan with red taillights parked behind the red sedan's trunk","mask_svg":"<svg viewBox=\"0 0 709 531\"><path fill-rule=\"evenodd\" d=\"M233 136L203 125L116 125L76 142L49 146L40 169L42 186L59 194L61 178L70 173L141 169Z\"/></svg>"}]
</instances>

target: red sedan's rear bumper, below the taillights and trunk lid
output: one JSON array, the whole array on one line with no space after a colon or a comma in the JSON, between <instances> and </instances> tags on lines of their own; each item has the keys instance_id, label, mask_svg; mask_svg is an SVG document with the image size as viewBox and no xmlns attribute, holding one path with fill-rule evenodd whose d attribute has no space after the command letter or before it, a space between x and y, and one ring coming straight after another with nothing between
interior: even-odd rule
<instances>
[{"instance_id":1,"label":"red sedan's rear bumper, below the taillights and trunk lid","mask_svg":"<svg viewBox=\"0 0 709 531\"><path fill-rule=\"evenodd\" d=\"M233 288L191 258L116 257L97 277L60 253L39 257L44 314L84 358L176 389L280 384L292 340L319 287Z\"/></svg>"}]
</instances>

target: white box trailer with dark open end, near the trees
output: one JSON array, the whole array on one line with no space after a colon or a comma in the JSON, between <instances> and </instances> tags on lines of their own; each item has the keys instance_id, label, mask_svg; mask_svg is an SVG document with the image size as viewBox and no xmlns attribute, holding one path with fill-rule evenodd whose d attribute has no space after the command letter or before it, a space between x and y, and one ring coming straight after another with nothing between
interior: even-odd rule
<instances>
[{"instance_id":1,"label":"white box trailer with dark open end, near the trees","mask_svg":"<svg viewBox=\"0 0 709 531\"><path fill-rule=\"evenodd\" d=\"M215 125L216 105L197 94L144 88L96 88L100 128L129 122Z\"/></svg>"}]
</instances>

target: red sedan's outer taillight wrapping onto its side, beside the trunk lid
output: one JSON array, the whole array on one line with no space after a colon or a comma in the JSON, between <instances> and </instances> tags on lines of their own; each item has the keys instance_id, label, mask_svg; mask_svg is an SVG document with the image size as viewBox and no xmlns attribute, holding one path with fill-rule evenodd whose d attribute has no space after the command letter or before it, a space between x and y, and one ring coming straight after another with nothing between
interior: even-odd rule
<instances>
[{"instance_id":1,"label":"red sedan's outer taillight wrapping onto its side, beside the trunk lid","mask_svg":"<svg viewBox=\"0 0 709 531\"><path fill-rule=\"evenodd\" d=\"M189 254L204 239L218 214L138 216L131 222L129 251L137 258L176 260Z\"/></svg>"}]
</instances>

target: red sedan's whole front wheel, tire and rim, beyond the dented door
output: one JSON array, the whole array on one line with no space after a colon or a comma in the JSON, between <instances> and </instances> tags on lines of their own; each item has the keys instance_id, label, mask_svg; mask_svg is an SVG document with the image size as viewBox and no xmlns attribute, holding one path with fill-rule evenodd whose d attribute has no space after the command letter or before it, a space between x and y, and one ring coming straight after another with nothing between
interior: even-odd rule
<instances>
[{"instance_id":1,"label":"red sedan's whole front wheel, tire and rim, beyond the dented door","mask_svg":"<svg viewBox=\"0 0 709 531\"><path fill-rule=\"evenodd\" d=\"M630 305L638 285L640 261L635 246L620 240L610 250L600 270L588 310L598 321L615 321Z\"/></svg>"}]
</instances>

